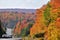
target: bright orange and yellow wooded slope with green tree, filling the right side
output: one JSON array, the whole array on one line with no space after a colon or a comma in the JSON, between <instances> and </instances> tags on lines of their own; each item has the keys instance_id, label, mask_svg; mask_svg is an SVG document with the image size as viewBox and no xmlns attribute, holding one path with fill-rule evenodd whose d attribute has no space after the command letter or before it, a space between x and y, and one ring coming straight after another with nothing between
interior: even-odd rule
<instances>
[{"instance_id":1,"label":"bright orange and yellow wooded slope with green tree, filling the right side","mask_svg":"<svg viewBox=\"0 0 60 40\"><path fill-rule=\"evenodd\" d=\"M30 35L44 40L60 40L60 0L51 0L36 10L36 21ZM44 34L41 36L41 34ZM39 40L39 39L38 39Z\"/></svg>"}]
</instances>

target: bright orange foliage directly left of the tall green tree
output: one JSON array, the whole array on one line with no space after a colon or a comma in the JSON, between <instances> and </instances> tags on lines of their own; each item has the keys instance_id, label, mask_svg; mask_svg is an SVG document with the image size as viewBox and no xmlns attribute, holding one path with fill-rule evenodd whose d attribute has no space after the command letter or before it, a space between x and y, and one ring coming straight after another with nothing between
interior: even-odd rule
<instances>
[{"instance_id":1,"label":"bright orange foliage directly left of the tall green tree","mask_svg":"<svg viewBox=\"0 0 60 40\"><path fill-rule=\"evenodd\" d=\"M43 31L42 29L44 27L45 26L43 24L43 10L37 9L36 21L35 21L35 24L32 26L32 28L30 29L30 35L32 36L32 35L42 32ZM46 28L44 28L44 29L46 29Z\"/></svg>"}]
</instances>

